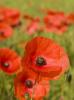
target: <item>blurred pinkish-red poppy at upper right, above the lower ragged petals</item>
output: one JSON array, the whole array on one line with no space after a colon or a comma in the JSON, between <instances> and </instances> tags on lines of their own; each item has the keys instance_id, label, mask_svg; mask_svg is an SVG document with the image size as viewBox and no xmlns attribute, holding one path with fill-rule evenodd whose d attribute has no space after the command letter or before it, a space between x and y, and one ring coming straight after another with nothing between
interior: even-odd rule
<instances>
[{"instance_id":1,"label":"blurred pinkish-red poppy at upper right, above the lower ragged petals","mask_svg":"<svg viewBox=\"0 0 74 100\"><path fill-rule=\"evenodd\" d=\"M61 23L66 22L66 16L63 12L49 11L48 15L44 17L44 22L47 24L53 24L55 26L60 25Z\"/></svg>"}]
</instances>

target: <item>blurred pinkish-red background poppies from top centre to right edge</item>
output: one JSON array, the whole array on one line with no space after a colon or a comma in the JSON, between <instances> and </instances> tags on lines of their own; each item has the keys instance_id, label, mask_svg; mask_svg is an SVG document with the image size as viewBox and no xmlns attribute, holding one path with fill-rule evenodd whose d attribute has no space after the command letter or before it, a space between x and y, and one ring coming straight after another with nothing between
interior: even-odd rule
<instances>
[{"instance_id":1,"label":"blurred pinkish-red background poppies from top centre to right edge","mask_svg":"<svg viewBox=\"0 0 74 100\"><path fill-rule=\"evenodd\" d=\"M65 15L64 12L55 11L55 10L45 10L45 15L40 21L35 21L35 18L26 14L24 19L29 19L29 25L26 28L26 31L29 35L34 34L38 31L41 32L52 32L58 35L63 34L68 30L68 27L71 24L74 24L74 14L70 13ZM43 23L44 25L42 25Z\"/></svg>"}]
</instances>

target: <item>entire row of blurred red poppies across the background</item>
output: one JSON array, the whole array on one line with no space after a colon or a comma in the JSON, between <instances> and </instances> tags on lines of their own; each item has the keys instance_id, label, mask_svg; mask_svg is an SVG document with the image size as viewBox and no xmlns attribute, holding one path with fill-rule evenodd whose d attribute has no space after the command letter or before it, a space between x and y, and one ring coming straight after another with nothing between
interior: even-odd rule
<instances>
[{"instance_id":1,"label":"entire row of blurred red poppies across the background","mask_svg":"<svg viewBox=\"0 0 74 100\"><path fill-rule=\"evenodd\" d=\"M42 13L43 14L43 13ZM12 27L21 24L21 14L17 9L0 8L0 41L7 39L13 35ZM64 12L46 10L42 19L39 16L32 17L28 14L24 15L25 31L32 35L40 32L53 32L58 35L68 30L68 26L74 23L74 14L65 15Z\"/></svg>"}]
</instances>

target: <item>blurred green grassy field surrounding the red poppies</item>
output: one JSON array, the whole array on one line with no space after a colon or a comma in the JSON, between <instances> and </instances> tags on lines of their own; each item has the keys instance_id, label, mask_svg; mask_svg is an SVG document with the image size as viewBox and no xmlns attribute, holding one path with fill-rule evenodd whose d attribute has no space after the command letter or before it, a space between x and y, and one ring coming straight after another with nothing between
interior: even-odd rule
<instances>
[{"instance_id":1,"label":"blurred green grassy field surrounding the red poppies","mask_svg":"<svg viewBox=\"0 0 74 100\"><path fill-rule=\"evenodd\" d=\"M0 7L18 8L22 15L23 13L29 13L32 16L42 17L43 14L39 11L39 8L50 8L65 13L74 12L74 0L0 0ZM61 36L52 33L41 33L40 35L52 38L62 45L69 55L71 64L68 74L63 75L60 80L50 82L51 90L44 100L74 100L74 25L71 25L68 31ZM29 39L30 36L24 34L23 30L18 27L14 30L11 38L0 42L0 47L10 47L21 40ZM12 48L20 55L23 54L20 46L14 45ZM15 75L8 76L0 71L0 100L16 100L13 93L14 77Z\"/></svg>"}]
</instances>

